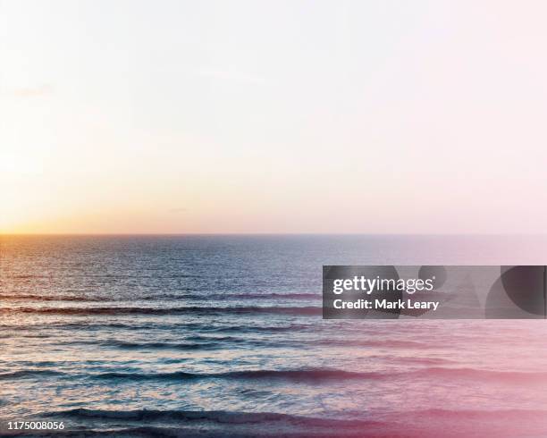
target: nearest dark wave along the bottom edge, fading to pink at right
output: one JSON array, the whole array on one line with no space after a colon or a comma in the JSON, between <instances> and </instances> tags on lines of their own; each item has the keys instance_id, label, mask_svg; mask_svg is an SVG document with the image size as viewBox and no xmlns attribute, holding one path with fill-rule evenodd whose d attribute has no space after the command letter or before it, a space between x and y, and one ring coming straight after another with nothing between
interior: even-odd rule
<instances>
[{"instance_id":1,"label":"nearest dark wave along the bottom edge, fading to pink at right","mask_svg":"<svg viewBox=\"0 0 547 438\"><path fill-rule=\"evenodd\" d=\"M292 438L459 438L544 436L547 412L527 409L390 412L366 417L307 417L269 412L70 409L42 413L70 420L78 436L206 436ZM523 419L526 420L523 424ZM57 436L59 433L39 436ZM62 434L62 433L61 433ZM72 436L72 431L66 434Z\"/></svg>"}]
</instances>

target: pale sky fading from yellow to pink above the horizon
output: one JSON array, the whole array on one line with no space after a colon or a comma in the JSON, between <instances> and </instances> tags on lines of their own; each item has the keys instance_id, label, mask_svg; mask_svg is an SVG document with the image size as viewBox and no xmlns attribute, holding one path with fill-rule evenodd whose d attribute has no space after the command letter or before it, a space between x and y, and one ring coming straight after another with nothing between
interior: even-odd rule
<instances>
[{"instance_id":1,"label":"pale sky fading from yellow to pink above the horizon","mask_svg":"<svg viewBox=\"0 0 547 438\"><path fill-rule=\"evenodd\" d=\"M0 0L0 232L544 232L546 16Z\"/></svg>"}]
</instances>

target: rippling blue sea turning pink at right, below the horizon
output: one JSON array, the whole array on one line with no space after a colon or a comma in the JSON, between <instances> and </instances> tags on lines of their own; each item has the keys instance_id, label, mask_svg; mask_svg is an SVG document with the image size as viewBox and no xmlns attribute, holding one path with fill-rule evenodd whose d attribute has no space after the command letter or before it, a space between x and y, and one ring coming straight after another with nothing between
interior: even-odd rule
<instances>
[{"instance_id":1,"label":"rippling blue sea turning pink at right, below the horizon","mask_svg":"<svg viewBox=\"0 0 547 438\"><path fill-rule=\"evenodd\" d=\"M546 436L544 321L320 312L322 265L546 251L537 237L0 237L0 431Z\"/></svg>"}]
</instances>

